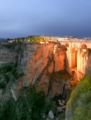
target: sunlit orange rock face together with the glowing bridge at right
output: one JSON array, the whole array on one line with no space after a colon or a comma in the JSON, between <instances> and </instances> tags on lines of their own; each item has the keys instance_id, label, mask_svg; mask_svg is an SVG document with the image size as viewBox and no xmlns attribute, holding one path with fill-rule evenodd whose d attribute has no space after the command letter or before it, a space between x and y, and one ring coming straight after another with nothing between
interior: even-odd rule
<instances>
[{"instance_id":1,"label":"sunlit orange rock face together with the glowing bridge at right","mask_svg":"<svg viewBox=\"0 0 91 120\"><path fill-rule=\"evenodd\" d=\"M90 47L90 42L73 40L40 45L31 59L27 57L26 80L46 94L61 94L66 81L76 86L85 74L90 73Z\"/></svg>"}]
</instances>

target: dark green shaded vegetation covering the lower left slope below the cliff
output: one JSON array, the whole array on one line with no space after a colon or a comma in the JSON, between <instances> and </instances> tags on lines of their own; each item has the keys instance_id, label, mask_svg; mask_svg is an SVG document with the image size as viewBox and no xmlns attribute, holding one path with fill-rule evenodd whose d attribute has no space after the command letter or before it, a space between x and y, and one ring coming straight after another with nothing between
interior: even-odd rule
<instances>
[{"instance_id":1,"label":"dark green shaded vegetation covering the lower left slope below the cliff","mask_svg":"<svg viewBox=\"0 0 91 120\"><path fill-rule=\"evenodd\" d=\"M0 66L0 120L45 120L55 104L34 87L16 90L22 71L15 64Z\"/></svg>"}]
</instances>

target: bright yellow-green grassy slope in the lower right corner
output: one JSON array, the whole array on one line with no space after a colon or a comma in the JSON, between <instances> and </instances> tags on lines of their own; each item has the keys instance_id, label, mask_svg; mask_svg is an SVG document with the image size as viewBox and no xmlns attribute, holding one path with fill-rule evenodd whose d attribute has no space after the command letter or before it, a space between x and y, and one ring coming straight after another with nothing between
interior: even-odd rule
<instances>
[{"instance_id":1,"label":"bright yellow-green grassy slope in the lower right corner","mask_svg":"<svg viewBox=\"0 0 91 120\"><path fill-rule=\"evenodd\" d=\"M85 76L67 103L66 120L91 120L91 77Z\"/></svg>"}]
</instances>

